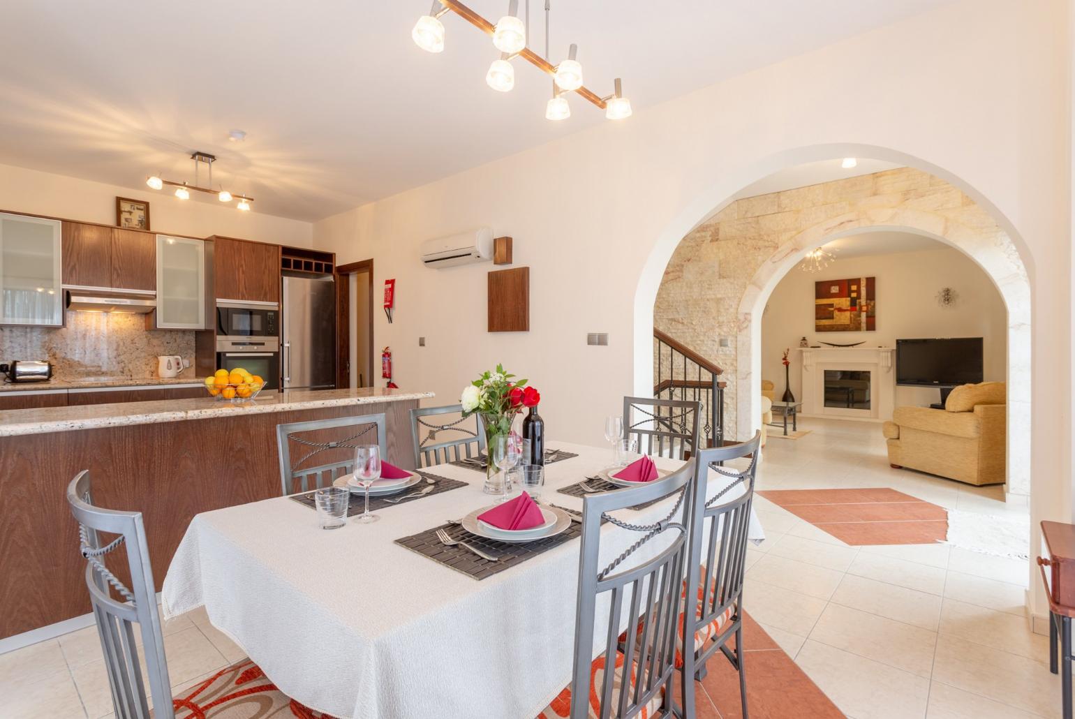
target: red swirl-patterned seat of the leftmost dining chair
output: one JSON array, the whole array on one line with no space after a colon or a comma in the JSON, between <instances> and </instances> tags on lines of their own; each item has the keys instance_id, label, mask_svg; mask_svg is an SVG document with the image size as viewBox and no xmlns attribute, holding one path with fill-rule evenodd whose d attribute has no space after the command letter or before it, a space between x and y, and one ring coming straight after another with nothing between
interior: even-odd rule
<instances>
[{"instance_id":1,"label":"red swirl-patterned seat of the leftmost dining chair","mask_svg":"<svg viewBox=\"0 0 1075 719\"><path fill-rule=\"evenodd\" d=\"M184 690L172 706L176 719L335 719L285 695L249 659Z\"/></svg>"}]
</instances>

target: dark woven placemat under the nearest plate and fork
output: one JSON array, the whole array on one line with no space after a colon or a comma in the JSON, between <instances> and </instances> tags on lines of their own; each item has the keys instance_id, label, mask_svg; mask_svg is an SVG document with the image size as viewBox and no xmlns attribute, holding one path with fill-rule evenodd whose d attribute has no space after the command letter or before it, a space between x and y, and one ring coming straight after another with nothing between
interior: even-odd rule
<instances>
[{"instance_id":1,"label":"dark woven placemat under the nearest plate and fork","mask_svg":"<svg viewBox=\"0 0 1075 719\"><path fill-rule=\"evenodd\" d=\"M447 532L448 536L453 540L462 540L490 557L496 557L497 561L490 562L487 559L482 559L462 545L457 544L449 547L441 544L441 541L436 538L436 530L439 529ZM416 551L424 557L429 557L434 562L453 569L456 572L461 572L467 576L474 577L475 579L485 579L516 564L521 564L531 557L536 557L553 547L559 547L565 542L571 542L582 533L583 526L579 522L572 521L568 529L556 536L535 540L526 544L508 544L506 542L497 542L496 540L475 536L459 524L441 524L418 534L400 537L396 540L396 544L406 547L411 551Z\"/></svg>"}]
</instances>

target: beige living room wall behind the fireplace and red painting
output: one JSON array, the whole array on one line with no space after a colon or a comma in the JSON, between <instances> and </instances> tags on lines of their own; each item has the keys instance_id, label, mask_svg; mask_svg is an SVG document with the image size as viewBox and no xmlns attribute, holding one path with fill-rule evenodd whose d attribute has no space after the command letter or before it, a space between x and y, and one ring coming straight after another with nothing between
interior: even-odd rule
<instances>
[{"instance_id":1,"label":"beige living room wall behind the fireplace and red painting","mask_svg":"<svg viewBox=\"0 0 1075 719\"><path fill-rule=\"evenodd\" d=\"M893 244L893 249L899 249ZM877 330L874 332L814 331L814 283L845 277L876 277ZM951 307L941 307L942 287L959 292ZM894 251L836 259L814 274L798 268L776 286L761 320L761 376L784 392L784 349L791 348L791 391L802 398L802 364L796 351L806 336L818 342L865 342L869 347L894 347L898 337L984 337L985 378L1004 382L1007 375L1007 310L992 281L961 251L937 243L934 249ZM897 387L895 405L928 406L937 402L935 389ZM879 430L878 430L879 431Z\"/></svg>"}]
</instances>

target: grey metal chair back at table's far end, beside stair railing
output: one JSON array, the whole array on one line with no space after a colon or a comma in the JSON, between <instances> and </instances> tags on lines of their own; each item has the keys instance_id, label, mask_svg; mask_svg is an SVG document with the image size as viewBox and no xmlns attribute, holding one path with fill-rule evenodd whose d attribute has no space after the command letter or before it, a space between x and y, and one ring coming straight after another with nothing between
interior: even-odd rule
<instances>
[{"instance_id":1,"label":"grey metal chair back at table's far end, beside stair railing","mask_svg":"<svg viewBox=\"0 0 1075 719\"><path fill-rule=\"evenodd\" d=\"M624 438L639 440L639 451L672 459L687 459L698 444L701 403L693 400L624 398Z\"/></svg>"}]
</instances>

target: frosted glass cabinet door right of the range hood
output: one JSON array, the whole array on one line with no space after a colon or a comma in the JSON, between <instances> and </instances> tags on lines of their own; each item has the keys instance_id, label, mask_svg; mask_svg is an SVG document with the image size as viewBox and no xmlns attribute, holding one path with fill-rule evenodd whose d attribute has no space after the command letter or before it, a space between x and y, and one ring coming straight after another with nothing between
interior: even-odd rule
<instances>
[{"instance_id":1,"label":"frosted glass cabinet door right of the range hood","mask_svg":"<svg viewBox=\"0 0 1075 719\"><path fill-rule=\"evenodd\" d=\"M205 329L205 243L157 235L157 327Z\"/></svg>"}]
</instances>

